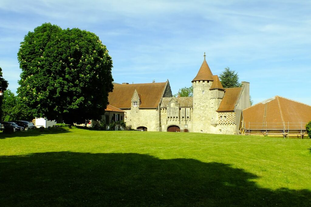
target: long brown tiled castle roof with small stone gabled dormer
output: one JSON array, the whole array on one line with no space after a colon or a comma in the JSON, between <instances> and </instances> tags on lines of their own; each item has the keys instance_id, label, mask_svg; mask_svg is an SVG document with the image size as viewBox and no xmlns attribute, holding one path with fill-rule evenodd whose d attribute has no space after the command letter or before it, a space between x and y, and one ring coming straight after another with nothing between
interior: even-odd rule
<instances>
[{"instance_id":1,"label":"long brown tiled castle roof with small stone gabled dormer","mask_svg":"<svg viewBox=\"0 0 311 207\"><path fill-rule=\"evenodd\" d=\"M109 104L119 109L131 108L131 99L136 89L141 98L139 108L157 108L164 93L164 83L138 83L138 84L116 84L113 92L109 93Z\"/></svg>"}]
</instances>

